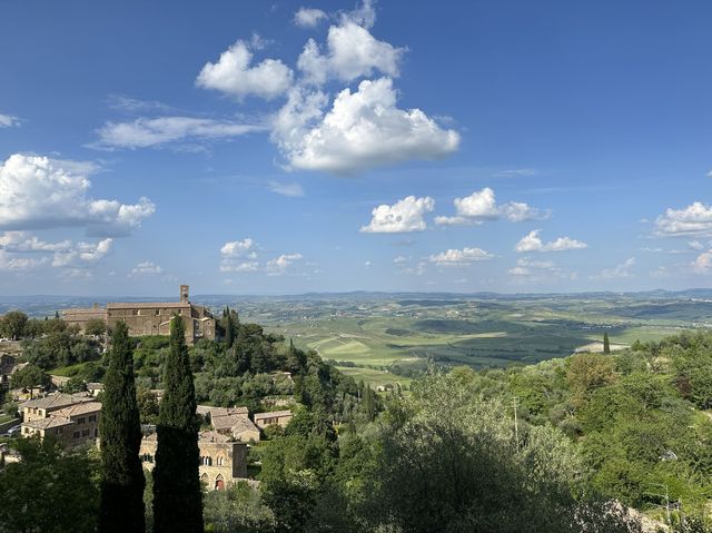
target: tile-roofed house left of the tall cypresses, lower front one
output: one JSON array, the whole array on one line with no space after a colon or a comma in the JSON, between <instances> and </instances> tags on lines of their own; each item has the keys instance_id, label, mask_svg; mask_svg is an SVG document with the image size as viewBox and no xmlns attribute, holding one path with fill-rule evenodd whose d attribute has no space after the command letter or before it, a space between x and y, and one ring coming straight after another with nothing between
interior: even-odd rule
<instances>
[{"instance_id":1,"label":"tile-roofed house left of the tall cypresses, lower front one","mask_svg":"<svg viewBox=\"0 0 712 533\"><path fill-rule=\"evenodd\" d=\"M82 401L53 409L43 418L26 420L22 423L21 435L23 437L39 435L40 438L51 435L66 447L76 447L82 444L96 445L99 438L100 418L101 404Z\"/></svg>"}]
</instances>

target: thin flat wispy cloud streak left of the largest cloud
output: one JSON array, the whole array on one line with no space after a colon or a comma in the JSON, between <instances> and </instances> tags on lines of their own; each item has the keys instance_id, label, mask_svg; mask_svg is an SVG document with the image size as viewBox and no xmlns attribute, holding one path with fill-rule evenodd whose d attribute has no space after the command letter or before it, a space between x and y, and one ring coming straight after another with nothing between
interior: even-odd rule
<instances>
[{"instance_id":1,"label":"thin flat wispy cloud streak left of the largest cloud","mask_svg":"<svg viewBox=\"0 0 712 533\"><path fill-rule=\"evenodd\" d=\"M97 134L92 148L150 148L171 142L198 142L227 139L254 131L265 131L261 125L240 124L195 117L137 118L130 122L107 122Z\"/></svg>"}]
</instances>

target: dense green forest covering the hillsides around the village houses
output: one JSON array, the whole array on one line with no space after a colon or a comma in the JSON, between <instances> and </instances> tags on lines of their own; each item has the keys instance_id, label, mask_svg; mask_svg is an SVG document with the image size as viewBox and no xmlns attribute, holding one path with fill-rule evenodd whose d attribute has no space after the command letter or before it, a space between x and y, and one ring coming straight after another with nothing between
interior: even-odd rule
<instances>
[{"instance_id":1,"label":"dense green forest covering the hillsides around the village houses","mask_svg":"<svg viewBox=\"0 0 712 533\"><path fill-rule=\"evenodd\" d=\"M16 335L31 363L16 385L38 379L28 368L41 379L59 368L77 388L101 379L100 327L81 335L44 322L52 327ZM712 531L712 334L507 369L432 368L407 392L376 394L229 309L220 328L222 340L188 352L196 399L257 412L277 396L296 415L253 447L259 488L204 495L206 531L635 532L645 515ZM155 422L168 339L131 342L140 416ZM48 505L66 511L41 531L95 531L96 451L12 445L23 461L0 473L0 531L36 531ZM49 475L57 483L36 490Z\"/></svg>"}]
</instances>

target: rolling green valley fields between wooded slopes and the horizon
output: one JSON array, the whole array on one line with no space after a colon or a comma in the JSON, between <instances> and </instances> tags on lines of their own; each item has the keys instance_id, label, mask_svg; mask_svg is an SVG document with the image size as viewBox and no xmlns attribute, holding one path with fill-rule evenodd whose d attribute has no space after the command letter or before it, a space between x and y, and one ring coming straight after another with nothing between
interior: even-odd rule
<instances>
[{"instance_id":1,"label":"rolling green valley fields between wooded slopes and the horizon","mask_svg":"<svg viewBox=\"0 0 712 533\"><path fill-rule=\"evenodd\" d=\"M615 349L712 327L712 303L617 295L345 297L300 302L297 319L287 308L283 303L277 312L261 303L260 318L273 332L375 385L395 383L431 364L483 368L565 357L597 349L604 333Z\"/></svg>"}]
</instances>

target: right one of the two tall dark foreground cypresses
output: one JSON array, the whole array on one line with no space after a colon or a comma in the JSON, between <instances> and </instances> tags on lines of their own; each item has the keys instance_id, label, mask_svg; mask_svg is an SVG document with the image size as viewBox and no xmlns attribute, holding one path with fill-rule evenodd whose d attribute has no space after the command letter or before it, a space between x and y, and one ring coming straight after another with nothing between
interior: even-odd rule
<instances>
[{"instance_id":1,"label":"right one of the two tall dark foreground cypresses","mask_svg":"<svg viewBox=\"0 0 712 533\"><path fill-rule=\"evenodd\" d=\"M202 494L198 477L196 395L182 318L170 323L170 351L158 415L154 468L154 531L202 533Z\"/></svg>"}]
</instances>

